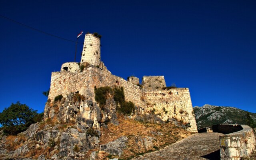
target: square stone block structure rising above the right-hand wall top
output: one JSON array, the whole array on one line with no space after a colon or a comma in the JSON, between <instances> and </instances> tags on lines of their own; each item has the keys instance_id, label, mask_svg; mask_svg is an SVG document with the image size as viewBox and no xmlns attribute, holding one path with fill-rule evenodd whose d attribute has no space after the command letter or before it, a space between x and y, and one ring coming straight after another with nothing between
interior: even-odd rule
<instances>
[{"instance_id":1,"label":"square stone block structure rising above the right-hand wall top","mask_svg":"<svg viewBox=\"0 0 256 160\"><path fill-rule=\"evenodd\" d=\"M166 87L164 76L144 76L142 77L144 89L158 90Z\"/></svg>"}]
</instances>

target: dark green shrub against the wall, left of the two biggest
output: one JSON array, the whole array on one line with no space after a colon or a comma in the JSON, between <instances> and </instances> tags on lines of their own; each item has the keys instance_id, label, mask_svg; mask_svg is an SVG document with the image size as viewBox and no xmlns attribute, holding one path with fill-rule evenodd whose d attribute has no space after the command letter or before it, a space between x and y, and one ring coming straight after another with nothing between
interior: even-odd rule
<instances>
[{"instance_id":1,"label":"dark green shrub against the wall, left of the two biggest","mask_svg":"<svg viewBox=\"0 0 256 160\"><path fill-rule=\"evenodd\" d=\"M106 104L106 97L108 94L112 94L112 89L110 87L100 87L96 88L94 86L95 100L102 108Z\"/></svg>"}]
</instances>

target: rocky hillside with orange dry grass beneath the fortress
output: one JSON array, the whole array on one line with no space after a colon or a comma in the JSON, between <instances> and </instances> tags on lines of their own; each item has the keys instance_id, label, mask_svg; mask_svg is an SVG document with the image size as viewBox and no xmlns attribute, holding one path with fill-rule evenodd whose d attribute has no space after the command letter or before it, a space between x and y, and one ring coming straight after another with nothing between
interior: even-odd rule
<instances>
[{"instance_id":1,"label":"rocky hillside with orange dry grass beneath the fortress","mask_svg":"<svg viewBox=\"0 0 256 160\"><path fill-rule=\"evenodd\" d=\"M188 124L173 118L164 122L158 114L125 116L117 107L112 97L99 107L78 93L56 102L48 100L43 122L17 136L0 130L0 159L126 160L191 134L185 130ZM82 109L92 118L83 118Z\"/></svg>"}]
</instances>

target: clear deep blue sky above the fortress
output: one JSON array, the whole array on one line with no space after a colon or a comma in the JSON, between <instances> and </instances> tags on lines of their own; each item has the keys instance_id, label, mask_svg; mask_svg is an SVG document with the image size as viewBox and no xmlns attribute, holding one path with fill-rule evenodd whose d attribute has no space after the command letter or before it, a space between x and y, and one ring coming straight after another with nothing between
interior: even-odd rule
<instances>
[{"instance_id":1,"label":"clear deep blue sky above the fortress","mask_svg":"<svg viewBox=\"0 0 256 160\"><path fill-rule=\"evenodd\" d=\"M193 106L256 112L255 0L0 0L0 14L76 41L98 32L117 76L164 75ZM43 112L51 72L74 61L75 43L0 17L0 112L20 101ZM83 42L84 34L78 39ZM80 62L82 44L78 44Z\"/></svg>"}]
</instances>

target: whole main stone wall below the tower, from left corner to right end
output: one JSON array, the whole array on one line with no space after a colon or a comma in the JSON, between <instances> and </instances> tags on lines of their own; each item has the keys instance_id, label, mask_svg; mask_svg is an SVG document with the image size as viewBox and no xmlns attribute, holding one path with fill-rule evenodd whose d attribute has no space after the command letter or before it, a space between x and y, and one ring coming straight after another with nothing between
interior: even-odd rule
<instances>
[{"instance_id":1,"label":"whole main stone wall below the tower, from left corner to right end","mask_svg":"<svg viewBox=\"0 0 256 160\"><path fill-rule=\"evenodd\" d=\"M155 114L161 114L162 119L182 120L184 123L190 123L189 131L197 132L188 88L142 90L139 86L112 75L104 65L102 70L94 65L88 65L83 72L52 72L48 98L54 100L59 94L66 97L70 92L79 91L86 100L95 102L94 86L123 87L125 100L133 102L137 107L142 108L143 112L150 113L154 108ZM163 108L167 111L166 114L163 113Z\"/></svg>"}]
</instances>

